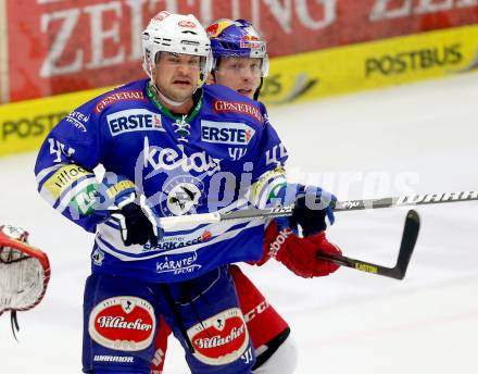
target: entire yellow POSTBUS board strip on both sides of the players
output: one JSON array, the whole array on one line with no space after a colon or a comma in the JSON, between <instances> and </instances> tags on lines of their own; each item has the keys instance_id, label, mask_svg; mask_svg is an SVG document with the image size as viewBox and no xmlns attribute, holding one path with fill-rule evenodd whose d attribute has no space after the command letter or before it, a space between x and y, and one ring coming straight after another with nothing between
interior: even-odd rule
<instances>
[{"instance_id":1,"label":"entire yellow POSTBUS board strip on both sides of the players","mask_svg":"<svg viewBox=\"0 0 478 374\"><path fill-rule=\"evenodd\" d=\"M461 74L478 67L478 25L272 60L261 99L304 101ZM38 149L71 110L109 88L0 105L0 155Z\"/></svg>"}]
</instances>

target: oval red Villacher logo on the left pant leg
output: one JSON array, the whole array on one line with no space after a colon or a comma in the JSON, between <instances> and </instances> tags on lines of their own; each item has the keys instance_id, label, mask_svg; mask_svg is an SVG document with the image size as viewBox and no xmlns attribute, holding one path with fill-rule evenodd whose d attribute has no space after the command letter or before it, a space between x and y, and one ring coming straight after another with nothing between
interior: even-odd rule
<instances>
[{"instance_id":1,"label":"oval red Villacher logo on the left pant leg","mask_svg":"<svg viewBox=\"0 0 478 374\"><path fill-rule=\"evenodd\" d=\"M146 300L124 296L101 301L90 313L88 332L99 345L123 351L139 351L154 337L153 307Z\"/></svg>"}]
</instances>

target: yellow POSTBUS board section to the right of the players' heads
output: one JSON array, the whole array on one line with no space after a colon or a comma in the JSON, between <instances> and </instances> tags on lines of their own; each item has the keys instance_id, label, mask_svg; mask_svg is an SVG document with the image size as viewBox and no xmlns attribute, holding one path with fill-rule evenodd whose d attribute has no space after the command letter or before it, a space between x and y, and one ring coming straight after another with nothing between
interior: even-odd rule
<instances>
[{"instance_id":1,"label":"yellow POSTBUS board section to the right of the players' heads","mask_svg":"<svg viewBox=\"0 0 478 374\"><path fill-rule=\"evenodd\" d=\"M268 104L460 74L478 67L478 25L422 33L272 60Z\"/></svg>"}]
</instances>

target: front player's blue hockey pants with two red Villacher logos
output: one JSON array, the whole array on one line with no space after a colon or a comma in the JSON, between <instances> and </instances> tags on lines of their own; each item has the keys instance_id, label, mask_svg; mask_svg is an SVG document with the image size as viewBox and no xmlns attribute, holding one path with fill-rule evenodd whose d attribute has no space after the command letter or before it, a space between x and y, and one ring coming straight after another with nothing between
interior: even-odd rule
<instances>
[{"instance_id":1,"label":"front player's blue hockey pants with two red Villacher logos","mask_svg":"<svg viewBox=\"0 0 478 374\"><path fill-rule=\"evenodd\" d=\"M84 372L149 374L160 315L184 347L191 373L251 372L255 357L227 266L174 284L90 275Z\"/></svg>"}]
</instances>

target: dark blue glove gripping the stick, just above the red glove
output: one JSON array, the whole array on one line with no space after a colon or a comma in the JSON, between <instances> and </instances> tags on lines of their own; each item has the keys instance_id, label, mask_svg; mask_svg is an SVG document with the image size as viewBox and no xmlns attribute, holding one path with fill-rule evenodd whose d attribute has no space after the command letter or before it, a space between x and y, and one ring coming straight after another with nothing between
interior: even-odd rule
<instances>
[{"instance_id":1,"label":"dark blue glove gripping the stick, just above the red glove","mask_svg":"<svg viewBox=\"0 0 478 374\"><path fill-rule=\"evenodd\" d=\"M318 234L335 222L331 204L337 198L320 187L287 184L280 187L277 198L284 205L294 204L292 215L276 219L279 230L288 227L295 234L298 225L303 236Z\"/></svg>"}]
</instances>

